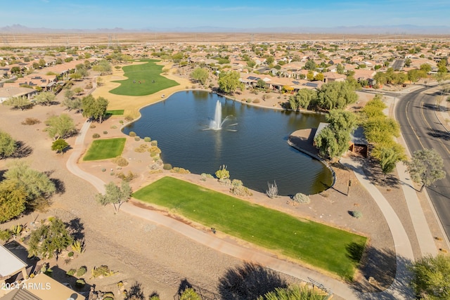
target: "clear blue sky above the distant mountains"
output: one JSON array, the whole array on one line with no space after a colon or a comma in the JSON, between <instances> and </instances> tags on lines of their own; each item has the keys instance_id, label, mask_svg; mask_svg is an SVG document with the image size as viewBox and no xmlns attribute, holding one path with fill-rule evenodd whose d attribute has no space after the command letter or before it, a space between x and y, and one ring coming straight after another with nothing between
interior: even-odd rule
<instances>
[{"instance_id":1,"label":"clear blue sky above the distant mountains","mask_svg":"<svg viewBox=\"0 0 450 300\"><path fill-rule=\"evenodd\" d=\"M0 27L97 29L122 27L450 26L450 0L18 0L0 1Z\"/></svg>"}]
</instances>

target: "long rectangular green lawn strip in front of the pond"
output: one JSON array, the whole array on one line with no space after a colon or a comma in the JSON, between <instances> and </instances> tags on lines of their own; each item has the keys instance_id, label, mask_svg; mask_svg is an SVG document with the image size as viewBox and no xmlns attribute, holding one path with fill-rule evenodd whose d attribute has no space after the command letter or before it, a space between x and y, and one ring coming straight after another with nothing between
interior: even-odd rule
<instances>
[{"instance_id":1,"label":"long rectangular green lawn strip in front of the pond","mask_svg":"<svg viewBox=\"0 0 450 300\"><path fill-rule=\"evenodd\" d=\"M163 177L133 195L167 207L207 228L276 250L351 280L366 237L298 219L172 177Z\"/></svg>"}]
</instances>

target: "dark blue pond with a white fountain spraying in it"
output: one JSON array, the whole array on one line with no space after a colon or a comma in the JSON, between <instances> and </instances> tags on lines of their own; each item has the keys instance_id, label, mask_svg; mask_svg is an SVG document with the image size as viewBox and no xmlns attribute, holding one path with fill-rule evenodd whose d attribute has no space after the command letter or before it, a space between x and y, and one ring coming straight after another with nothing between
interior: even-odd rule
<instances>
[{"instance_id":1,"label":"dark blue pond with a white fountain spraying in it","mask_svg":"<svg viewBox=\"0 0 450 300\"><path fill-rule=\"evenodd\" d=\"M223 124L214 130L217 101ZM231 179L252 190L265 193L275 181L279 195L319 193L333 181L326 166L287 143L290 133L318 126L323 115L255 107L206 91L174 93L141 115L124 133L157 140L162 160L173 167L214 175L225 165Z\"/></svg>"}]
</instances>

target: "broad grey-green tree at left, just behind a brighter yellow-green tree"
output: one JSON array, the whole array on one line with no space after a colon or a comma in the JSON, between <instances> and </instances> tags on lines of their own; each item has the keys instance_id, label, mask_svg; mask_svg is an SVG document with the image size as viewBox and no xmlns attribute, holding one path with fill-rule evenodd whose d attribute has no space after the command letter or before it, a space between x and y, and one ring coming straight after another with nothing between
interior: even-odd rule
<instances>
[{"instance_id":1,"label":"broad grey-green tree at left, just behind a brighter yellow-green tree","mask_svg":"<svg viewBox=\"0 0 450 300\"><path fill-rule=\"evenodd\" d=\"M31 169L24 162L15 162L5 172L5 181L13 181L17 188L23 188L28 201L39 197L48 198L56 191L55 183L44 172Z\"/></svg>"}]
</instances>

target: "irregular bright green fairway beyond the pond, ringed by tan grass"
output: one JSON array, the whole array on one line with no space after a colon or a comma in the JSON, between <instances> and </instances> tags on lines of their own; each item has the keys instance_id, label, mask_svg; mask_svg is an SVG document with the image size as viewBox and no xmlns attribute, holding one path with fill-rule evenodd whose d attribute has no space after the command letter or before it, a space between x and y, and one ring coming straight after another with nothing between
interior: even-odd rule
<instances>
[{"instance_id":1,"label":"irregular bright green fairway beyond the pond, ringed by tan grass","mask_svg":"<svg viewBox=\"0 0 450 300\"><path fill-rule=\"evenodd\" d=\"M147 63L122 67L124 76L128 79L113 81L120 83L120 86L111 90L110 93L124 96L146 96L178 85L176 81L160 75L162 65L155 64L158 60L141 61Z\"/></svg>"}]
</instances>

